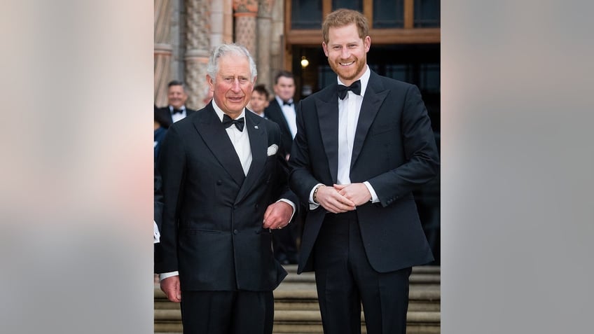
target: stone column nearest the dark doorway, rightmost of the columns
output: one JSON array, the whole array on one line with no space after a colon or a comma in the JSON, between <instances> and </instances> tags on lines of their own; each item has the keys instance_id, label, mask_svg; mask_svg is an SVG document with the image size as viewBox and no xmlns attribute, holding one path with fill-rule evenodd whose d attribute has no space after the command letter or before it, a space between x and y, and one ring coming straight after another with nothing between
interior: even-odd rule
<instances>
[{"instance_id":1,"label":"stone column nearest the dark doorway, rightmost of the columns","mask_svg":"<svg viewBox=\"0 0 594 334\"><path fill-rule=\"evenodd\" d=\"M258 83L272 87L272 76L270 74L270 53L272 47L272 6L275 0L259 0L257 18L258 36Z\"/></svg>"}]
</instances>

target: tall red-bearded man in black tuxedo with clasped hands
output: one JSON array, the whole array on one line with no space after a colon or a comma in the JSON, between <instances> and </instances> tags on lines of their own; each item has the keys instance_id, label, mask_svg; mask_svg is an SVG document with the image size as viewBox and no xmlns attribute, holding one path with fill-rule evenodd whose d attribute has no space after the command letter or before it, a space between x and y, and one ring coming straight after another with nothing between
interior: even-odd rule
<instances>
[{"instance_id":1,"label":"tall red-bearded man in black tuxedo with clasped hands","mask_svg":"<svg viewBox=\"0 0 594 334\"><path fill-rule=\"evenodd\" d=\"M361 333L361 302L368 334L403 334L411 267L433 260L412 190L438 173L434 134L418 88L367 66L364 15L334 11L322 33L338 79L297 106L298 273L315 271L325 334Z\"/></svg>"}]
</instances>

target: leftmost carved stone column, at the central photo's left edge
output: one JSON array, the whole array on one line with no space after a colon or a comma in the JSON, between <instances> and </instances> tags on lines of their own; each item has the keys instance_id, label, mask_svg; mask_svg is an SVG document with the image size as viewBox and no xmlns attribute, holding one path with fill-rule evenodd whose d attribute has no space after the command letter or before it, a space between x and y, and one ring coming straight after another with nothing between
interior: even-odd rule
<instances>
[{"instance_id":1,"label":"leftmost carved stone column, at the central photo's left edge","mask_svg":"<svg viewBox=\"0 0 594 334\"><path fill-rule=\"evenodd\" d=\"M172 44L170 36L171 1L155 0L155 85L154 103L167 105L167 83L171 76Z\"/></svg>"}]
</instances>

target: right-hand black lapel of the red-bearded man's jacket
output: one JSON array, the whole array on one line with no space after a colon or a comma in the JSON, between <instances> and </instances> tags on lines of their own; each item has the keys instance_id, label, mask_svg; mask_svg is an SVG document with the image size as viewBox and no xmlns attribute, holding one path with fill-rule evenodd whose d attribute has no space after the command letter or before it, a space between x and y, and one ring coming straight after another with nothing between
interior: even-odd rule
<instances>
[{"instance_id":1,"label":"right-hand black lapel of the red-bearded man's jacket","mask_svg":"<svg viewBox=\"0 0 594 334\"><path fill-rule=\"evenodd\" d=\"M361 153L361 148L363 148L369 127L371 127L373 120L375 120L375 116L380 111L380 106L387 95L387 90L374 92L374 88L371 85L368 86L365 92L363 103L361 104L361 112L359 113L359 120L357 121L357 130L355 130L354 134L351 168L357 162L357 158L359 158L359 153Z\"/></svg>"}]
</instances>

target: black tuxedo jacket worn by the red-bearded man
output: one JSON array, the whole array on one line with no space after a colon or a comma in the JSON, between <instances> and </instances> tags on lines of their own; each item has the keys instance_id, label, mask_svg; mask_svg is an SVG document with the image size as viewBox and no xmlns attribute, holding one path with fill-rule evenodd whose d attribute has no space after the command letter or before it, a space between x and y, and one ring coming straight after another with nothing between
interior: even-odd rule
<instances>
[{"instance_id":1,"label":"black tuxedo jacket worn by the red-bearded man","mask_svg":"<svg viewBox=\"0 0 594 334\"><path fill-rule=\"evenodd\" d=\"M297 109L290 183L307 203L317 183L336 183L337 84L303 99ZM438 166L434 134L417 87L372 71L355 132L350 179L369 181L380 200L356 211L367 258L378 272L433 260L412 190L431 180ZM298 272L312 270L312 249L326 213L321 206L308 211Z\"/></svg>"}]
</instances>

